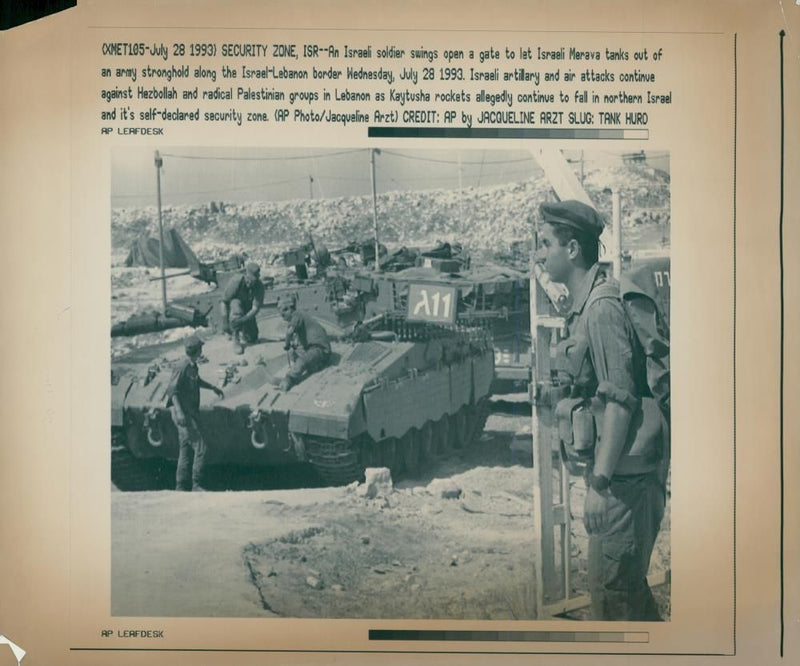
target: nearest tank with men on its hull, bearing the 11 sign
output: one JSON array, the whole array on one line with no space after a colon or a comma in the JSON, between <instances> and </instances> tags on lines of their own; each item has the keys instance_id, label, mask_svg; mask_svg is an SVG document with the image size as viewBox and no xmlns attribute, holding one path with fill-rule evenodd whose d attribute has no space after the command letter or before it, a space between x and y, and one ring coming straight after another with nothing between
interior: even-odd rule
<instances>
[{"instance_id":1,"label":"nearest tank with men on its hull, bearing the 11 sign","mask_svg":"<svg viewBox=\"0 0 800 666\"><path fill-rule=\"evenodd\" d=\"M364 286L366 276L359 279ZM494 371L490 331L461 317L453 284L375 280L374 289L351 290L350 302L344 294L338 302L353 310L354 299L360 307L346 334L320 317L333 334L330 362L287 391L278 388L290 363L285 323L274 310L262 310L259 341L242 355L224 335L206 338L200 375L225 393L201 391L208 465L305 461L331 484L357 480L371 466L413 477L437 451L478 436ZM379 305L365 318L369 302ZM112 440L136 459L177 459L166 391L183 356L178 342L138 349L112 365ZM121 489L131 485L124 477L112 457Z\"/></svg>"}]
</instances>

